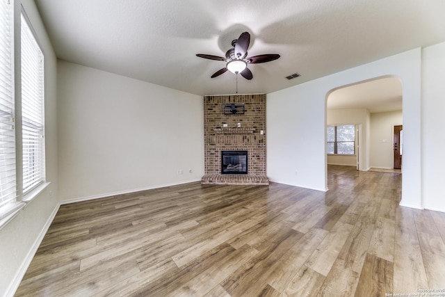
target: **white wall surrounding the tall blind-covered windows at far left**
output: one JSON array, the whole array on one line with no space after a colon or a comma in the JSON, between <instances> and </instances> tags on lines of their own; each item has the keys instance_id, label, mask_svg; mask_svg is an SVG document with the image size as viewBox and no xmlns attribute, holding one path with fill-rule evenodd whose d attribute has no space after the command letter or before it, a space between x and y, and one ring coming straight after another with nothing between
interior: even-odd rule
<instances>
[{"instance_id":1,"label":"white wall surrounding the tall blind-covered windows at far left","mask_svg":"<svg viewBox=\"0 0 445 297\"><path fill-rule=\"evenodd\" d=\"M19 286L49 223L58 209L58 147L56 114L56 56L33 0L11 1L15 5L15 96L20 97L20 6L28 15L40 47L45 68L45 145L49 186L0 230L0 296L12 296Z\"/></svg>"}]
</instances>

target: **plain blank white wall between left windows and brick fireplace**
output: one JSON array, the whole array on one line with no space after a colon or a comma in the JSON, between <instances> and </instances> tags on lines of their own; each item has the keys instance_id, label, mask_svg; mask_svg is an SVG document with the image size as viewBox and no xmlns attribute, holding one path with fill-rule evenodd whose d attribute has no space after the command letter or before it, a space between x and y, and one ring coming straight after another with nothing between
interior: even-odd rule
<instances>
[{"instance_id":1,"label":"plain blank white wall between left windows and brick fireplace","mask_svg":"<svg viewBox=\"0 0 445 297\"><path fill-rule=\"evenodd\" d=\"M58 61L58 104L62 202L204 175L200 96Z\"/></svg>"}]
</instances>

